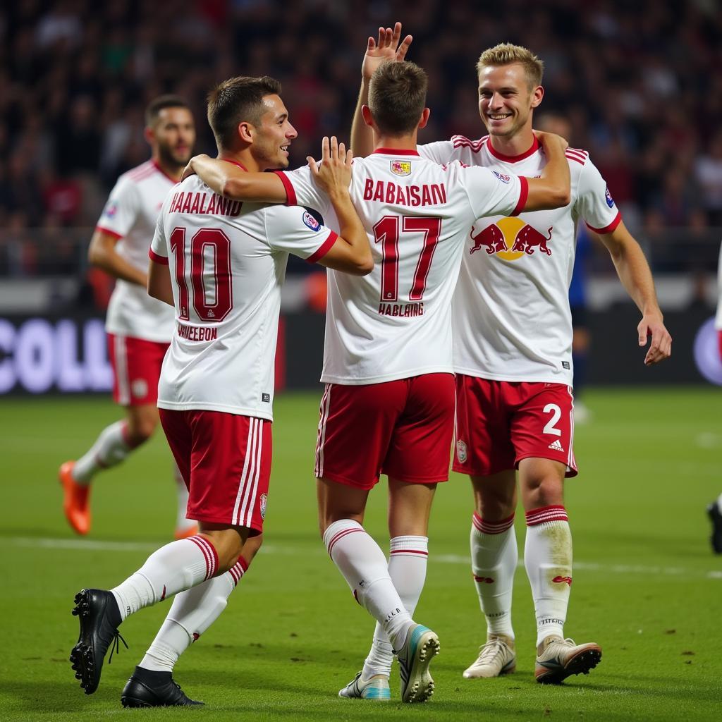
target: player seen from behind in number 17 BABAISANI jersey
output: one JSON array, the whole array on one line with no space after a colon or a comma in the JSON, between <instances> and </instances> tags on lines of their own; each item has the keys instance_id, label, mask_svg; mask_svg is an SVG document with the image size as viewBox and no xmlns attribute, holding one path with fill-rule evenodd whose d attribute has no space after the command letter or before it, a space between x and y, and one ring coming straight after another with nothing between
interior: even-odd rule
<instances>
[{"instance_id":1,"label":"player seen from behind in number 17 BABAISANI jersey","mask_svg":"<svg viewBox=\"0 0 722 722\"><path fill-rule=\"evenodd\" d=\"M416 136L429 116L426 86L426 74L413 64L387 64L375 73L364 109L375 153L355 161L350 192L378 263L364 279L329 271L326 391L316 449L319 521L331 559L377 620L377 646L388 652L388 661L367 660L340 692L344 697L390 698L392 646L401 699L423 702L433 691L428 666L438 638L412 614L425 580L432 497L436 484L448 479L451 296L469 224L488 213L513 215L568 200L557 136L546 141L556 160L544 178L498 176L458 163L441 168L420 158ZM256 181L208 159L191 165L225 193L233 190L231 175L238 183ZM278 177L286 188L278 200L318 209L336 224L308 170ZM273 183L258 178L258 192L272 197ZM390 495L388 564L362 527L368 493L382 473Z\"/></svg>"}]
</instances>

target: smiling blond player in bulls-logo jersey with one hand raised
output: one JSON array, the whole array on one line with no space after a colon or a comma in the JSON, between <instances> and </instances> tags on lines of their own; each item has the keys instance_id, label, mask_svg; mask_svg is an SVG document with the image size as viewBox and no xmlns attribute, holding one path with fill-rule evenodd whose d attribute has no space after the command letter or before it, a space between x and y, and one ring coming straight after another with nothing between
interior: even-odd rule
<instances>
[{"instance_id":1,"label":"smiling blond player in bulls-logo jersey with one hand raised","mask_svg":"<svg viewBox=\"0 0 722 722\"><path fill-rule=\"evenodd\" d=\"M391 32L386 30L386 33ZM401 36L375 47L362 69L359 105L375 66L393 56ZM408 47L411 38L404 44ZM479 113L489 136L419 147L440 163L461 160L497 173L537 175L547 159L532 132L532 114L544 96L543 66L517 45L503 44L479 58ZM355 116L352 147L370 151L370 137ZM536 611L539 682L561 682L599 662L595 643L565 640L563 625L572 584L572 544L564 507L565 474L576 474L573 455L572 326L567 288L575 226L587 222L612 255L617 273L642 312L640 346L651 336L645 364L670 355L653 280L638 243L586 151L567 149L572 198L565 208L482 219L472 229L453 304L457 373L453 468L469 474L476 510L471 559L487 643L464 677L497 677L516 667L511 625L517 564L513 529L518 468L526 511L524 562Z\"/></svg>"}]
</instances>

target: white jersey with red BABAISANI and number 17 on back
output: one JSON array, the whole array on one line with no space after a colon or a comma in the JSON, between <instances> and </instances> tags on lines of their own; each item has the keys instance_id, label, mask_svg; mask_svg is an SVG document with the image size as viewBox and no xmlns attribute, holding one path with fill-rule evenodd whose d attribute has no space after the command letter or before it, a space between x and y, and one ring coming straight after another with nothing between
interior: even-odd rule
<instances>
[{"instance_id":1,"label":"white jersey with red BABAISANI and number 17 on back","mask_svg":"<svg viewBox=\"0 0 722 722\"><path fill-rule=\"evenodd\" d=\"M308 168L278 173L290 203L318 210L338 230ZM469 227L486 214L518 213L526 178L377 149L354 161L349 191L375 268L361 278L329 270L321 380L366 384L451 373L451 297Z\"/></svg>"}]
</instances>

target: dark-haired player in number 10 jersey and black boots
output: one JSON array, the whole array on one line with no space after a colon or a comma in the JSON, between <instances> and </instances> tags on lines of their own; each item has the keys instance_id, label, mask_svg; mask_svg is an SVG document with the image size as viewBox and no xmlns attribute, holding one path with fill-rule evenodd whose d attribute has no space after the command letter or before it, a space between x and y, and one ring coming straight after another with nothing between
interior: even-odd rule
<instances>
[{"instance_id":1,"label":"dark-haired player in number 10 jersey and black boots","mask_svg":"<svg viewBox=\"0 0 722 722\"><path fill-rule=\"evenodd\" d=\"M237 77L209 95L219 157L251 171L287 165L296 131L272 78ZM340 155L340 157L339 157ZM367 274L368 241L348 193L350 155L324 142L321 175L342 235L300 207L241 204L199 178L168 195L152 241L148 290L175 306L158 406L201 532L152 554L112 591L76 596L71 652L86 694L121 621L177 594L156 639L123 689L124 706L193 705L171 670L217 618L238 582L239 554L261 534L271 467L271 419L281 285L289 253ZM181 592L181 593L178 593Z\"/></svg>"}]
</instances>

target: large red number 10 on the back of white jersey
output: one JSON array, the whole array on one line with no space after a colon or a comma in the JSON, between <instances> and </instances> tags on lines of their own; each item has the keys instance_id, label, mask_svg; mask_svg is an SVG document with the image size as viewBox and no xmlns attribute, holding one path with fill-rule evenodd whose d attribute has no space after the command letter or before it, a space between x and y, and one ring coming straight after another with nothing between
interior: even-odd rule
<instances>
[{"instance_id":1,"label":"large red number 10 on the back of white jersey","mask_svg":"<svg viewBox=\"0 0 722 722\"><path fill-rule=\"evenodd\" d=\"M191 238L191 289L186 279L186 229L174 228L170 250L175 256L175 280L182 321L190 320L189 291L200 321L217 323L233 308L230 285L230 240L222 230L201 228ZM212 265L210 265L212 264ZM210 266L210 267L209 267Z\"/></svg>"}]
</instances>

